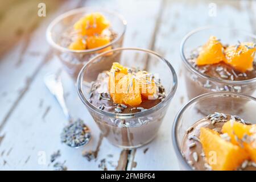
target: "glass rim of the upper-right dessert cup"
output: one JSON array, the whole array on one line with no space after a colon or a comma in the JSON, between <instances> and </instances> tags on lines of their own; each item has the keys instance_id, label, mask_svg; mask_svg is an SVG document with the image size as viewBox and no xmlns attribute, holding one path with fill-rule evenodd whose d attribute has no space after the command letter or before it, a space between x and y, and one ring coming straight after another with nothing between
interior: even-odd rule
<instances>
[{"instance_id":1,"label":"glass rim of the upper-right dessert cup","mask_svg":"<svg viewBox=\"0 0 256 182\"><path fill-rule=\"evenodd\" d=\"M184 44L187 42L187 40L192 35L196 34L197 32L200 32L200 31L203 31L203 30L210 30L210 29L214 29L214 28L222 28L222 29L229 29L229 30L235 30L235 31L243 32L243 34L247 34L248 36L256 39L256 35L254 35L253 33L249 32L249 31L241 30L241 29L238 29L238 28L230 28L230 27L225 27L225 26L205 26L205 27L196 28L195 30L192 30L192 31L188 32L188 34L186 34L184 36L184 38L181 40L181 43L180 43L180 56L181 56L181 59L183 60L183 63L185 64L185 67L190 69L197 76L203 77L205 79L208 79L208 80L214 81L214 82L220 82L220 83L224 83L224 84L234 84L234 85L255 83L256 82L256 77L251 78L249 80L240 80L240 81L222 80L222 79L218 79L218 78L212 78L212 77L209 77L208 75L205 75L204 73L199 72L196 68L194 68L188 62L187 58L185 57L185 53L184 53L184 47L185 47Z\"/></svg>"}]
</instances>

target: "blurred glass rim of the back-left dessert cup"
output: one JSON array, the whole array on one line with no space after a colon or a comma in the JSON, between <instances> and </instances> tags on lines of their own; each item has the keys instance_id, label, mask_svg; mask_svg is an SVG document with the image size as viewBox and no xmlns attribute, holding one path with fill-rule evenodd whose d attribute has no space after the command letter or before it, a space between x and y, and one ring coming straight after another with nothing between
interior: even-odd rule
<instances>
[{"instance_id":1,"label":"blurred glass rim of the back-left dessert cup","mask_svg":"<svg viewBox=\"0 0 256 182\"><path fill-rule=\"evenodd\" d=\"M93 49L85 49L85 50L72 50L72 49L69 49L67 47L63 47L63 46L60 46L59 44L57 44L55 41L53 41L52 39L52 34L51 34L51 31L52 31L52 28L60 22L60 20L64 19L64 18L67 18L68 16L71 16L71 15L74 15L74 14L77 14L77 13L82 13L82 11L85 11L85 10L90 10L90 9L96 9L97 11L100 11L100 12L104 12L104 13L108 13L108 14L112 14L114 16L117 16L119 18L119 20L121 20L121 22L123 23L123 31L121 32L121 34L118 34L117 35L117 38L115 38L114 40L112 40L112 42L104 45L104 46L100 46L100 47L97 47L97 48L93 48ZM77 8L77 9L73 9L73 10L70 10L70 11L67 11L63 14L60 14L59 16L57 16L55 19L52 20L52 22L48 25L47 27L47 30L46 30L46 39L47 39L47 42L53 47L53 48L56 48L58 49L59 51L62 51L62 52L73 52L73 53L93 53L93 52L96 52L96 51L100 51L101 49L104 49L108 46L112 46L115 42L117 42L119 39L122 38L122 36L125 34L125 31L126 31L126 27L127 27L127 22L125 20L125 18L119 14L119 13L116 13L115 11L111 11L111 10L107 10L107 9L103 9L101 7L80 7L80 8Z\"/></svg>"}]
</instances>

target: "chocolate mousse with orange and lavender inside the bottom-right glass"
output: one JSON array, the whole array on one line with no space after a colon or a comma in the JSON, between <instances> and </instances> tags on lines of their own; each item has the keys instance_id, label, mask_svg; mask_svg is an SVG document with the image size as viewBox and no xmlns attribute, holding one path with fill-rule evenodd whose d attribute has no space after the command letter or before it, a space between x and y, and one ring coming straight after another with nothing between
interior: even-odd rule
<instances>
[{"instance_id":1,"label":"chocolate mousse with orange and lavender inside the bottom-right glass","mask_svg":"<svg viewBox=\"0 0 256 182\"><path fill-rule=\"evenodd\" d=\"M254 131L251 131L251 128L254 128ZM255 128L256 125L251 125L237 115L217 112L209 114L186 131L181 153L194 170L255 171ZM250 144L253 147L250 147ZM205 154L206 151L209 151L208 155ZM217 153L216 163L209 164L214 156L210 152ZM232 160L237 159L237 163L230 161L230 155Z\"/></svg>"}]
</instances>

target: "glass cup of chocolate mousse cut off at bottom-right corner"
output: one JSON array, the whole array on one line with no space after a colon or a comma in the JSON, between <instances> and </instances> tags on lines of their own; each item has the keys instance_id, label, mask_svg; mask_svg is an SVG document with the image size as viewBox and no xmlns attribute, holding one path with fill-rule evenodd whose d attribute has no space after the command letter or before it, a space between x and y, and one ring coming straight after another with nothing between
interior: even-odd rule
<instances>
[{"instance_id":1,"label":"glass cup of chocolate mousse cut off at bottom-right corner","mask_svg":"<svg viewBox=\"0 0 256 182\"><path fill-rule=\"evenodd\" d=\"M189 101L172 127L180 168L256 170L255 107L256 98L230 92L206 93Z\"/></svg>"}]
</instances>

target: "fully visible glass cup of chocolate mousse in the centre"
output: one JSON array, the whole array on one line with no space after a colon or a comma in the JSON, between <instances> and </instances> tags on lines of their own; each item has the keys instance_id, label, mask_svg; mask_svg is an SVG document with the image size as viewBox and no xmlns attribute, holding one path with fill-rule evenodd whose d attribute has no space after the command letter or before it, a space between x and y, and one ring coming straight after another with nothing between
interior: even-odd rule
<instances>
[{"instance_id":1,"label":"fully visible glass cup of chocolate mousse in the centre","mask_svg":"<svg viewBox=\"0 0 256 182\"><path fill-rule=\"evenodd\" d=\"M141 48L101 53L84 65L77 78L79 97L102 134L126 149L156 137L176 88L172 65Z\"/></svg>"}]
</instances>

